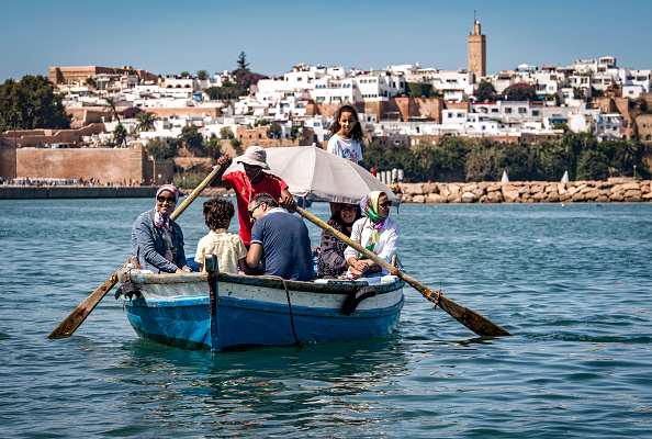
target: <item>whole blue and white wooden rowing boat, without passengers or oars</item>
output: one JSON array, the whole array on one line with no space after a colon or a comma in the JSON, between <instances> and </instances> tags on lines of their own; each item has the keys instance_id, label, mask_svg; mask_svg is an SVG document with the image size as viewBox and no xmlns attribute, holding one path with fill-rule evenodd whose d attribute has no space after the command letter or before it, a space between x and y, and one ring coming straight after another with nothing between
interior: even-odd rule
<instances>
[{"instance_id":1,"label":"whole blue and white wooden rowing boat, without passengers or oars","mask_svg":"<svg viewBox=\"0 0 652 439\"><path fill-rule=\"evenodd\" d=\"M220 272L153 274L134 269L121 270L119 279L128 320L139 337L212 350L387 335L398 323L405 284L394 275L297 282Z\"/></svg>"}]
</instances>

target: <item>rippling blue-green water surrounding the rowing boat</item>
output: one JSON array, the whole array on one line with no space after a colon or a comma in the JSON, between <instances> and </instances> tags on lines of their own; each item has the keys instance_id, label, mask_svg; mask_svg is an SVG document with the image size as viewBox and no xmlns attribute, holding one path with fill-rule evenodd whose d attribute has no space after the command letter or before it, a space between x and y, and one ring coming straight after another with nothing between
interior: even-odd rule
<instances>
[{"instance_id":1,"label":"rippling blue-green water surrounding the rowing boat","mask_svg":"<svg viewBox=\"0 0 652 439\"><path fill-rule=\"evenodd\" d=\"M202 201L179 221L191 251ZM113 292L74 337L46 340L126 260L151 205L0 201L0 436L652 435L652 204L393 211L409 273L510 338L475 338L406 288L398 329L364 342L166 348L136 337Z\"/></svg>"}]
</instances>

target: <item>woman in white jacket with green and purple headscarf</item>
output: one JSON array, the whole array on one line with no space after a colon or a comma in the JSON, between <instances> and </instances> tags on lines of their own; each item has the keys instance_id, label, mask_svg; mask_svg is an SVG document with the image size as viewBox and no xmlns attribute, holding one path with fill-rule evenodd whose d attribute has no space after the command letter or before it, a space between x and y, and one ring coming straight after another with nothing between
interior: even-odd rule
<instances>
[{"instance_id":1,"label":"woman in white jacket with green and purple headscarf","mask_svg":"<svg viewBox=\"0 0 652 439\"><path fill-rule=\"evenodd\" d=\"M360 218L353 224L351 239L380 258L391 262L396 255L398 240L398 223L390 218L390 199L382 191L373 191L367 195L364 205L366 218ZM361 278L371 273L389 274L389 271L381 269L372 260L366 259L353 248L347 247L345 258L349 262L349 273L353 278Z\"/></svg>"}]
</instances>

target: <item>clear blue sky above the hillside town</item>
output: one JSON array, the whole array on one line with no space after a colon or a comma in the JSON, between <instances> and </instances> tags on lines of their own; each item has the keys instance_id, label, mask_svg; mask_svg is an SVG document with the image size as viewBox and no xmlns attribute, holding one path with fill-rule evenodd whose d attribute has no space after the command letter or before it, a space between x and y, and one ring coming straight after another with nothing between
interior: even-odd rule
<instances>
[{"instance_id":1,"label":"clear blue sky above the hillside town","mask_svg":"<svg viewBox=\"0 0 652 439\"><path fill-rule=\"evenodd\" d=\"M473 11L487 72L615 56L652 68L652 0L139 1L3 0L0 81L50 66L130 65L154 74L280 75L321 64L363 69L414 64L466 68Z\"/></svg>"}]
</instances>

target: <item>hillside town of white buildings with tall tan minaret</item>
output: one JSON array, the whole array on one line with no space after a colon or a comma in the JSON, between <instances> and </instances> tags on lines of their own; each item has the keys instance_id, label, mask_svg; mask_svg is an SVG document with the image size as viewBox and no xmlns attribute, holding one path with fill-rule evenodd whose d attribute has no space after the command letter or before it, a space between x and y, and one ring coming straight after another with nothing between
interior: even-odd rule
<instances>
[{"instance_id":1,"label":"hillside town of white buildings with tall tan minaret","mask_svg":"<svg viewBox=\"0 0 652 439\"><path fill-rule=\"evenodd\" d=\"M241 154L250 145L325 147L334 111L350 103L360 113L366 142L380 146L413 147L446 136L535 142L565 131L589 133L598 142L636 136L652 143L652 114L645 111L652 104L652 69L620 67L604 56L487 75L486 37L477 21L468 37L468 60L459 70L418 63L379 70L299 64L278 77L252 75L244 53L237 70L212 76L206 70L161 76L131 66L50 67L70 130L4 126L0 142L16 149L134 145L156 160L169 156L151 154L148 143L187 144L191 128L220 154ZM243 72L249 74L248 87L238 89ZM146 173L147 179L143 172L108 179L157 180L156 171Z\"/></svg>"}]
</instances>

